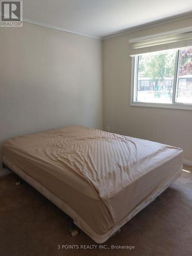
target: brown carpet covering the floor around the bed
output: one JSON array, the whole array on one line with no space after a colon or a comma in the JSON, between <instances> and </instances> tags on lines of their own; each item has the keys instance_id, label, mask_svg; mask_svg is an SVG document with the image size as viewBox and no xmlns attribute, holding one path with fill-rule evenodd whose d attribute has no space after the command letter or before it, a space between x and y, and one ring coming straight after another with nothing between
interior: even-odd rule
<instances>
[{"instance_id":1,"label":"brown carpet covering the floor around the bed","mask_svg":"<svg viewBox=\"0 0 192 256\"><path fill-rule=\"evenodd\" d=\"M0 255L192 255L192 168L147 206L107 249L57 249L58 245L97 245L82 231L70 237L67 216L30 185L15 186L15 177L0 177ZM112 245L135 249L111 249ZM97 245L98 247L98 245ZM109 248L109 249L108 249Z\"/></svg>"}]
</instances>

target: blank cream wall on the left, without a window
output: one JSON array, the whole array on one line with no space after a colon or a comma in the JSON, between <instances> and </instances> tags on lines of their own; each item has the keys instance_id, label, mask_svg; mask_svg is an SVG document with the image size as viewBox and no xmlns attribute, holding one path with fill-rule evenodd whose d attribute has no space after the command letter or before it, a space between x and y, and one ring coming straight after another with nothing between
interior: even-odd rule
<instances>
[{"instance_id":1,"label":"blank cream wall on the left, without a window","mask_svg":"<svg viewBox=\"0 0 192 256\"><path fill-rule=\"evenodd\" d=\"M101 40L24 23L0 28L0 56L0 148L71 124L102 129Z\"/></svg>"}]
</instances>

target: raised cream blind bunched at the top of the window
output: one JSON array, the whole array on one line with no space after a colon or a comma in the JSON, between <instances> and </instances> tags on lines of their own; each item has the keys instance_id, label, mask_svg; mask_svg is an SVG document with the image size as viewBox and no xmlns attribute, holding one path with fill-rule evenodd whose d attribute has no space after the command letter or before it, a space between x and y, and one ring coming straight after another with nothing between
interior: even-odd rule
<instances>
[{"instance_id":1,"label":"raised cream blind bunched at the top of the window","mask_svg":"<svg viewBox=\"0 0 192 256\"><path fill-rule=\"evenodd\" d=\"M192 32L187 32L178 35L169 35L156 37L147 40L137 39L131 43L130 56L136 56L148 52L163 51L168 49L178 49L192 46Z\"/></svg>"}]
</instances>

